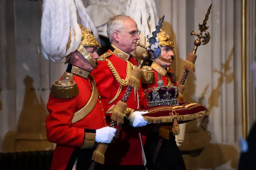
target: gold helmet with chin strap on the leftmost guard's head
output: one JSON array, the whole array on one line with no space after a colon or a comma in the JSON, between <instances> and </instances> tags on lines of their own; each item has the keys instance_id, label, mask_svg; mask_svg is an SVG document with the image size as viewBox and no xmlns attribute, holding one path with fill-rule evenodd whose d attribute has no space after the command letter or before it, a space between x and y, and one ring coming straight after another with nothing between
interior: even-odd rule
<instances>
[{"instance_id":1,"label":"gold helmet with chin strap on the leftmost guard's head","mask_svg":"<svg viewBox=\"0 0 256 170\"><path fill-rule=\"evenodd\" d=\"M79 45L77 50L82 55L84 55L84 54L82 53L82 51L80 51L80 49L82 49L82 48L80 48L81 46L83 46L83 47L101 47L101 45L98 43L98 41L96 40L96 38L93 36L92 32L88 28L84 28L84 26L82 26L81 24L78 24L78 25L81 29L82 40L81 40L80 45ZM70 43L71 43L71 30L70 30L70 34L69 34L69 37L68 37L68 43L67 43L66 49L68 49L70 47ZM71 52L70 54L68 54L66 56L65 64L68 63L72 53L73 52ZM86 58L86 56L84 56L84 57ZM90 59L88 59L88 57L86 59L90 62ZM91 63L91 64L94 65L93 63Z\"/></svg>"}]
</instances>

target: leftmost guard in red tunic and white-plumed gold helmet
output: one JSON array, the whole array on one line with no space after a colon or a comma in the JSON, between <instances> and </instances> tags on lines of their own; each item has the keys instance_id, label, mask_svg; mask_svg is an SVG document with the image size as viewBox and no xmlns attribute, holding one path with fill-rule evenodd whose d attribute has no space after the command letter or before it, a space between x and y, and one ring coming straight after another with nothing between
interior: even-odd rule
<instances>
[{"instance_id":1,"label":"leftmost guard in red tunic and white-plumed gold helmet","mask_svg":"<svg viewBox=\"0 0 256 170\"><path fill-rule=\"evenodd\" d=\"M77 10L82 24L77 22ZM66 72L52 85L47 103L47 138L57 144L50 170L72 170L75 165L76 170L88 170L93 154L98 154L97 143L110 143L116 132L106 124L104 106L90 75L97 67L96 49L100 44L88 17L81 0L43 2L44 56L55 62L66 57L68 63Z\"/></svg>"}]
</instances>

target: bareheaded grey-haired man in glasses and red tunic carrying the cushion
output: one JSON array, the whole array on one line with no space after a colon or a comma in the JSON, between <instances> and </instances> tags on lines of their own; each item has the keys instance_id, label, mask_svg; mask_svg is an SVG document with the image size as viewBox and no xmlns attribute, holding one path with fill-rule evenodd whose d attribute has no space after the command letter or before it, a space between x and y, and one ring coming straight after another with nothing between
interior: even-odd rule
<instances>
[{"instance_id":1,"label":"bareheaded grey-haired man in glasses and red tunic carrying the cushion","mask_svg":"<svg viewBox=\"0 0 256 170\"><path fill-rule=\"evenodd\" d=\"M98 58L98 68L92 71L92 75L106 110L106 121L110 123L118 101L127 97L128 79L137 65L130 52L136 49L140 31L132 18L117 15L109 18L107 34L111 47ZM120 136L108 146L105 153L106 170L144 170L146 159L138 127L148 124L142 117L147 112L134 111L140 109L140 94L141 85L140 88L132 88L128 96L127 107L122 113L124 123Z\"/></svg>"}]
</instances>

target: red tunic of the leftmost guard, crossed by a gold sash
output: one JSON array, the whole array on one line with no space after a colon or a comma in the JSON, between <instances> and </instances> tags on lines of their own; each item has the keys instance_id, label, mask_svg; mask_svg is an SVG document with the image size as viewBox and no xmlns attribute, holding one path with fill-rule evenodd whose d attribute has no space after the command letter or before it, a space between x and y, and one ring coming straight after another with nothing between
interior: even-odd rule
<instances>
[{"instance_id":1,"label":"red tunic of the leftmost guard, crossed by a gold sash","mask_svg":"<svg viewBox=\"0 0 256 170\"><path fill-rule=\"evenodd\" d=\"M68 65L67 72L71 72L70 67L72 65ZM73 73L73 75L73 81L78 87L78 95L71 99L60 99L50 94L46 105L49 112L46 117L47 138L50 142L57 144L50 170L72 170L78 151L86 143L86 135L88 133L95 134L96 129L106 126L106 114L99 97L96 98L96 105L92 111L80 121L72 124L74 113L88 103L93 85L92 77L83 78L78 76L79 73L77 75ZM94 88L96 87L94 86ZM91 161L91 159L84 161Z\"/></svg>"}]
</instances>

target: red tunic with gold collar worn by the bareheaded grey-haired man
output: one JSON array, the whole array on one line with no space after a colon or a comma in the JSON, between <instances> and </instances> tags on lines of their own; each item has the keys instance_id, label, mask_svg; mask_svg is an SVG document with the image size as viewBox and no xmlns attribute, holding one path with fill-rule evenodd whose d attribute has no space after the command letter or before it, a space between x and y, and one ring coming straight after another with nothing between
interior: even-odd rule
<instances>
[{"instance_id":1,"label":"red tunic with gold collar worn by the bareheaded grey-haired man","mask_svg":"<svg viewBox=\"0 0 256 170\"><path fill-rule=\"evenodd\" d=\"M126 60L127 59L127 60ZM96 87L104 102L104 109L108 111L110 107L122 100L127 85L120 83L126 79L128 67L137 65L136 60L129 54L111 46L110 49L98 59L98 67L92 71L96 81ZM116 78L118 77L118 78ZM121 82L122 83L122 82ZM138 93L137 93L138 91ZM132 88L130 97L127 100L127 107L131 109L140 108L141 87L137 91ZM111 113L106 114L107 123L110 124ZM142 165L142 144L139 136L139 128L129 125L129 120L124 118L124 124L120 131L119 138L108 146L105 153L105 164L112 165Z\"/></svg>"}]
</instances>

